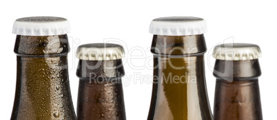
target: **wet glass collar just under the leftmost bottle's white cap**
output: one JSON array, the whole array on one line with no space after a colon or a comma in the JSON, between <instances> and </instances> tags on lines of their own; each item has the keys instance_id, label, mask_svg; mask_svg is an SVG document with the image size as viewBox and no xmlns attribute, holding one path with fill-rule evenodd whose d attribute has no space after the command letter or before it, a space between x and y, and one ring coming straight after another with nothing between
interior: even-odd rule
<instances>
[{"instance_id":1,"label":"wet glass collar just under the leftmost bottle's white cap","mask_svg":"<svg viewBox=\"0 0 277 120\"><path fill-rule=\"evenodd\" d=\"M55 36L17 35L14 53L17 56L63 56L70 51L67 34Z\"/></svg>"}]
</instances>

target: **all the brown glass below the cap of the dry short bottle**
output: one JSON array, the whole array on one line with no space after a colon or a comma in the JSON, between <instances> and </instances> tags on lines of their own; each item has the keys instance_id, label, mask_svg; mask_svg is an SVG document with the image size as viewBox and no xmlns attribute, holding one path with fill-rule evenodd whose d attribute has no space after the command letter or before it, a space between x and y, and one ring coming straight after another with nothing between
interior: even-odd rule
<instances>
[{"instance_id":1,"label":"all the brown glass below the cap of the dry short bottle","mask_svg":"<svg viewBox=\"0 0 277 120\"><path fill-rule=\"evenodd\" d=\"M258 85L260 75L258 59L216 60L214 119L263 119Z\"/></svg>"}]
</instances>

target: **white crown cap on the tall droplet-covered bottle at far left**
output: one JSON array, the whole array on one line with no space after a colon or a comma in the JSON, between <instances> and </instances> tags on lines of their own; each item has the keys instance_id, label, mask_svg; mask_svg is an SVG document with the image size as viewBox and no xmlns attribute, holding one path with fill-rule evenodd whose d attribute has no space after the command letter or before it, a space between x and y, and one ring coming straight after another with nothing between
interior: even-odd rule
<instances>
[{"instance_id":1,"label":"white crown cap on the tall droplet-covered bottle at far left","mask_svg":"<svg viewBox=\"0 0 277 120\"><path fill-rule=\"evenodd\" d=\"M67 19L54 16L32 16L14 21L12 33L23 36L52 36L70 33Z\"/></svg>"}]
</instances>

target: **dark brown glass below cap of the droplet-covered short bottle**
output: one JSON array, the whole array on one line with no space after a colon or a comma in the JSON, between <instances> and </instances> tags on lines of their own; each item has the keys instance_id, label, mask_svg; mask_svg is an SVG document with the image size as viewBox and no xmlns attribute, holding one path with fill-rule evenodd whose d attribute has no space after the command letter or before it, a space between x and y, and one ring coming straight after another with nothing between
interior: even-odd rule
<instances>
[{"instance_id":1,"label":"dark brown glass below cap of the droplet-covered short bottle","mask_svg":"<svg viewBox=\"0 0 277 120\"><path fill-rule=\"evenodd\" d=\"M77 119L125 120L122 60L79 60Z\"/></svg>"}]
</instances>

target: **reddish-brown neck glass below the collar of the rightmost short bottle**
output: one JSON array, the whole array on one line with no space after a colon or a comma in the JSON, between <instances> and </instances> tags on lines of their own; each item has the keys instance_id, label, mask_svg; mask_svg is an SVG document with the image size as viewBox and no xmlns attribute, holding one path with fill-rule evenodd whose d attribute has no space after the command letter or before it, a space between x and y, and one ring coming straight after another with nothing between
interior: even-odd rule
<instances>
[{"instance_id":1,"label":"reddish-brown neck glass below the collar of the rightmost short bottle","mask_svg":"<svg viewBox=\"0 0 277 120\"><path fill-rule=\"evenodd\" d=\"M216 80L214 119L263 119L258 79Z\"/></svg>"}]
</instances>

